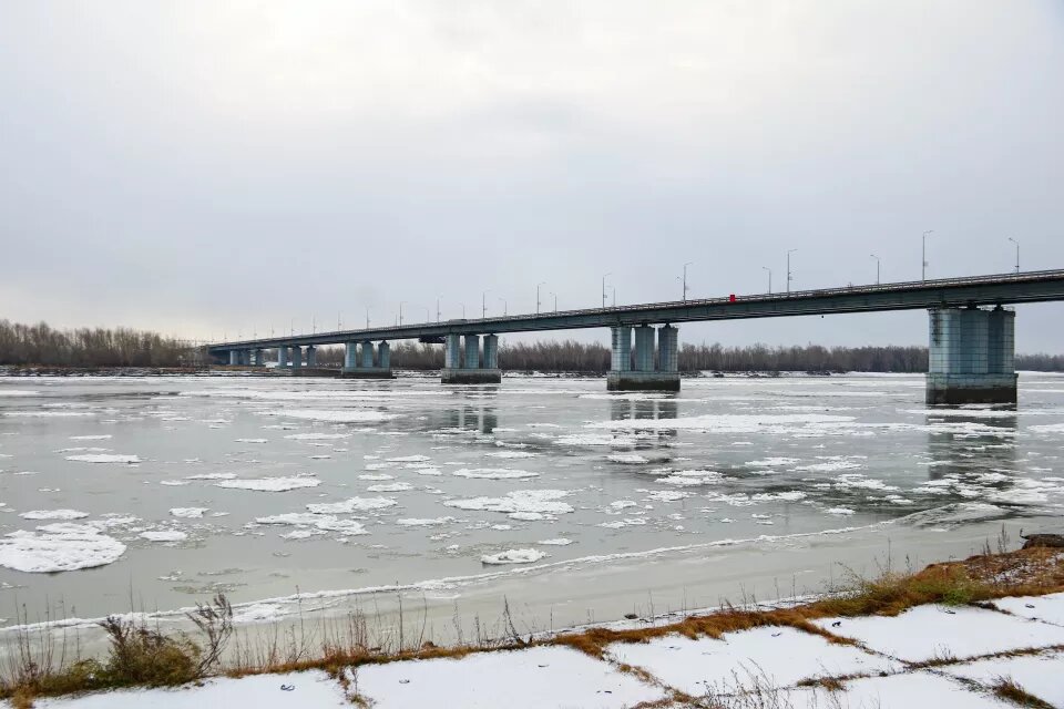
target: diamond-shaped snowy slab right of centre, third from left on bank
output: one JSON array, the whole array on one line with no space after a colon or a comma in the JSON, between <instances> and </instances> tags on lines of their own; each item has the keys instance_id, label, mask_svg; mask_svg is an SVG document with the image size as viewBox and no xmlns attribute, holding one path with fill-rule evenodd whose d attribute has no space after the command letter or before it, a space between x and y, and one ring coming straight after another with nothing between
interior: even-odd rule
<instances>
[{"instance_id":1,"label":"diamond-shaped snowy slab right of centre, third from left on bank","mask_svg":"<svg viewBox=\"0 0 1064 709\"><path fill-rule=\"evenodd\" d=\"M802 679L896 671L899 662L856 647L832 645L817 635L786 627L727 633L722 639L681 635L649 643L615 643L606 648L620 662L641 667L666 685L700 697L736 677L766 676L776 687Z\"/></svg>"}]
</instances>

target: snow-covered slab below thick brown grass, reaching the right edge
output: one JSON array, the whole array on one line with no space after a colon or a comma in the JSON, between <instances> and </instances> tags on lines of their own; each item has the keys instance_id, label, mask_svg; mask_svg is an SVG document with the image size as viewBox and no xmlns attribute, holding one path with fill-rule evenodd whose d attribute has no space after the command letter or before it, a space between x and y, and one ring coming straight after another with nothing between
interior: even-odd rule
<instances>
[{"instance_id":1,"label":"snow-covered slab below thick brown grass, reaching the right edge","mask_svg":"<svg viewBox=\"0 0 1064 709\"><path fill-rule=\"evenodd\" d=\"M910 662L1064 645L1064 628L970 607L929 605L891 618L826 618L814 623Z\"/></svg>"}]
</instances>

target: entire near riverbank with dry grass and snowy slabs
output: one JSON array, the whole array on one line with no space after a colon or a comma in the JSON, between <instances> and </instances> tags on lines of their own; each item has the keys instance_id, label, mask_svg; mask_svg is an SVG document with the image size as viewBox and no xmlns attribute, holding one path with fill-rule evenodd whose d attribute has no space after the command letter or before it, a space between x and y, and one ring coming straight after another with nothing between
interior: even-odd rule
<instances>
[{"instance_id":1,"label":"entire near riverbank with dry grass and snowy slabs","mask_svg":"<svg viewBox=\"0 0 1064 709\"><path fill-rule=\"evenodd\" d=\"M225 660L213 655L234 639L225 630L223 600L216 616L200 615L204 633L194 640L158 636L139 645L132 638L156 630L127 618L115 621L126 633L112 631L105 658L89 666L60 661L49 671L32 662L9 662L0 691L18 709L149 703L171 709L222 701L259 707L786 708L872 706L872 699L888 709L913 701L928 706L931 698L942 707L1061 706L1064 552L993 553L990 546L990 553L919 572L883 568L871 578L853 574L801 602L737 602L712 612L656 617L632 614L618 623L528 636L504 609L492 628L478 628L475 637L449 646L419 638L416 624L413 638L382 646L367 633L370 618L351 617L346 633L337 626L327 637L277 637L259 661L249 654ZM161 647L166 651L158 655ZM206 681L176 690L44 699L99 690L104 682L136 686L149 677L129 674L149 671L139 655L153 660L150 684L173 684L167 678L188 671L203 677L187 679ZM215 661L197 666L204 657Z\"/></svg>"}]
</instances>

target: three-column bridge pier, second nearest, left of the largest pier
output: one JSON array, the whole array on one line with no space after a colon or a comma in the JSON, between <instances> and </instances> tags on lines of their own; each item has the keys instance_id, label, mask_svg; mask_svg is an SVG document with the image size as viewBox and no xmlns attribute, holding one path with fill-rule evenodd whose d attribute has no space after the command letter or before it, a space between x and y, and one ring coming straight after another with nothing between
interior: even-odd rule
<instances>
[{"instance_id":1,"label":"three-column bridge pier, second nearest, left of the largest pier","mask_svg":"<svg viewBox=\"0 0 1064 709\"><path fill-rule=\"evenodd\" d=\"M610 391L679 391L677 343L679 331L671 325L657 330L657 363L654 362L654 328L635 328L635 368L632 368L632 328L613 328Z\"/></svg>"}]
</instances>

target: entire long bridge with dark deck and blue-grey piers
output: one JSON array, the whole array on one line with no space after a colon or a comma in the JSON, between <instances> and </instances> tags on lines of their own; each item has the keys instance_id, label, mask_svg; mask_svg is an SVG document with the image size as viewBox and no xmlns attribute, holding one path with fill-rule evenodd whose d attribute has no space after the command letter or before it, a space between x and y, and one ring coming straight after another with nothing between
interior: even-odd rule
<instances>
[{"instance_id":1,"label":"entire long bridge with dark deck and blue-grey piers","mask_svg":"<svg viewBox=\"0 0 1064 709\"><path fill-rule=\"evenodd\" d=\"M675 323L920 309L930 316L928 402L1013 403L1015 311L1005 306L1055 300L1064 300L1064 270L463 318L218 342L208 351L263 367L265 351L276 350L277 366L296 371L316 367L316 348L344 345L342 376L391 377L389 342L419 340L443 345L444 383L499 383L499 335L610 328L610 390L678 391Z\"/></svg>"}]
</instances>

